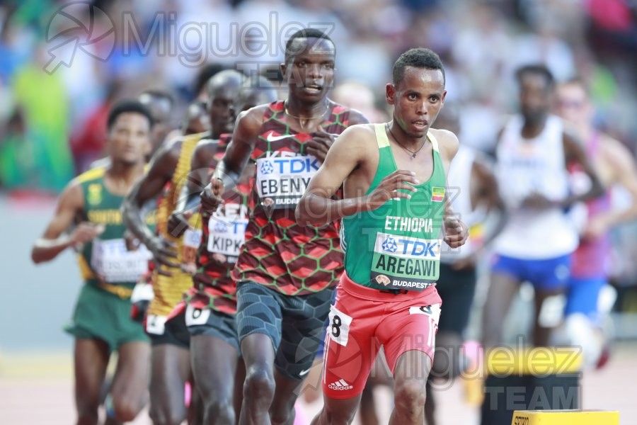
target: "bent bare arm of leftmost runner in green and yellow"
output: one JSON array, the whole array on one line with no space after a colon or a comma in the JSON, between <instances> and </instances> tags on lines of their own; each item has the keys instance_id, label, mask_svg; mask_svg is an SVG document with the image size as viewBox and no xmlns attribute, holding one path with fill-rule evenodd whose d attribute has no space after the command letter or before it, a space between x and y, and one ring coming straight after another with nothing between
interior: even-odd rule
<instances>
[{"instance_id":1,"label":"bent bare arm of leftmost runner in green and yellow","mask_svg":"<svg viewBox=\"0 0 637 425\"><path fill-rule=\"evenodd\" d=\"M104 232L103 225L80 222L71 234L63 234L74 222L81 220L84 212L84 195L76 182L69 183L59 197L57 209L42 237L35 241L31 249L34 263L51 261L69 246L86 244Z\"/></svg>"}]
</instances>

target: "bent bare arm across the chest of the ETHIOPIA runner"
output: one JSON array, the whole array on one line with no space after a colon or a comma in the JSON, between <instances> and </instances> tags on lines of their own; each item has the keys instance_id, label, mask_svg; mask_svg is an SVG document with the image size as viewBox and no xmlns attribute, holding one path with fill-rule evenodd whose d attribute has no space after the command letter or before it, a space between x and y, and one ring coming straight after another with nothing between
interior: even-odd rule
<instances>
[{"instance_id":1,"label":"bent bare arm across the chest of the ETHIOPIA runner","mask_svg":"<svg viewBox=\"0 0 637 425\"><path fill-rule=\"evenodd\" d=\"M391 198L411 198L398 189L415 191L411 184L418 184L413 171L398 170L386 176L377 188L365 196L376 170L365 166L378 157L376 136L372 125L354 125L345 130L329 150L325 162L312 177L295 212L299 225L323 225L357 212L375 210ZM376 150L374 150L376 149ZM378 160L376 161L378 162ZM345 199L333 200L331 196L360 169L355 183L349 182Z\"/></svg>"}]
</instances>

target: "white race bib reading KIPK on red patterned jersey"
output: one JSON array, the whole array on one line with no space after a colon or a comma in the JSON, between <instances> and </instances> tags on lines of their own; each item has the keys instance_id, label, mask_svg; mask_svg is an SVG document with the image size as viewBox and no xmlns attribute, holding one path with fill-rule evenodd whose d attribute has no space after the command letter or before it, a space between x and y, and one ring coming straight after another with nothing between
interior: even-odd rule
<instances>
[{"instance_id":1,"label":"white race bib reading KIPK on red patterned jersey","mask_svg":"<svg viewBox=\"0 0 637 425\"><path fill-rule=\"evenodd\" d=\"M224 260L220 262L236 263L246 239L246 227L248 215L245 205L224 205L224 210L217 210L208 222L208 252Z\"/></svg>"}]
</instances>

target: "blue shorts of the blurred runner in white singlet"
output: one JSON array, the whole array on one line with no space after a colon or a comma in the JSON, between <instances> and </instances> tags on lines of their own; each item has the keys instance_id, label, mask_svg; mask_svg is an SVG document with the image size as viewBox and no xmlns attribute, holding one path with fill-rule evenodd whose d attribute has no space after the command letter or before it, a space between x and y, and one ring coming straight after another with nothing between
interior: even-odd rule
<instances>
[{"instance_id":1,"label":"blue shorts of the blurred runner in white singlet","mask_svg":"<svg viewBox=\"0 0 637 425\"><path fill-rule=\"evenodd\" d=\"M544 260L516 259L496 254L491 271L507 274L520 282L527 281L539 290L559 290L568 285L570 254Z\"/></svg>"}]
</instances>

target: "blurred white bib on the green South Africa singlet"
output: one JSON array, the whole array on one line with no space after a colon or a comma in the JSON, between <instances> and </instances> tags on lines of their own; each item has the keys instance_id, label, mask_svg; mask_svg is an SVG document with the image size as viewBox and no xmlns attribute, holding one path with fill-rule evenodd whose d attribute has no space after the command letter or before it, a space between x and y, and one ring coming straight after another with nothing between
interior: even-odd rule
<instances>
[{"instance_id":1,"label":"blurred white bib on the green South Africa singlet","mask_svg":"<svg viewBox=\"0 0 637 425\"><path fill-rule=\"evenodd\" d=\"M152 258L146 246L128 251L124 239L93 240L91 268L108 283L136 282L148 271Z\"/></svg>"}]
</instances>

